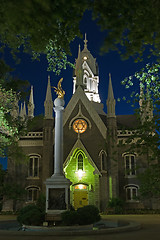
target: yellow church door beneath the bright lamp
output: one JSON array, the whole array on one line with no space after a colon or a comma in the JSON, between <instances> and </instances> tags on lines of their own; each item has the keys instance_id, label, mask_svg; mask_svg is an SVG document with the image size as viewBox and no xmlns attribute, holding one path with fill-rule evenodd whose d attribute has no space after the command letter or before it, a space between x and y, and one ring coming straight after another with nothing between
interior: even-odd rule
<instances>
[{"instance_id":1,"label":"yellow church door beneath the bright lamp","mask_svg":"<svg viewBox=\"0 0 160 240\"><path fill-rule=\"evenodd\" d=\"M88 205L88 190L84 184L78 184L74 187L74 208L80 208Z\"/></svg>"}]
</instances>

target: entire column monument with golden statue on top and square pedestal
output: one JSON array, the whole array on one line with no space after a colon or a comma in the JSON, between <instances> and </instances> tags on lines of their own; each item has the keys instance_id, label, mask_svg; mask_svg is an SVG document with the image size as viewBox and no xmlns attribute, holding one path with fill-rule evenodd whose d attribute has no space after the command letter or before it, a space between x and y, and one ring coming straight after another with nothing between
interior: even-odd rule
<instances>
[{"instance_id":1,"label":"entire column monument with golden statue on top and square pedestal","mask_svg":"<svg viewBox=\"0 0 160 240\"><path fill-rule=\"evenodd\" d=\"M54 101L55 111L55 145L54 145L54 173L46 179L46 214L60 216L61 212L68 209L69 205L69 187L70 181L63 173L63 110L64 110L64 95L62 89L61 78L58 82L55 92L58 97Z\"/></svg>"}]
</instances>

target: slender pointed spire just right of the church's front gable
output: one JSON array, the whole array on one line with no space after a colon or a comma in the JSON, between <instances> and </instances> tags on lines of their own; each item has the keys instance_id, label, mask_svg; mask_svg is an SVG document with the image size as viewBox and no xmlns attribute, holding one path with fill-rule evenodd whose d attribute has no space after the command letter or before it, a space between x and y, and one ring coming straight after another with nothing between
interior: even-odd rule
<instances>
[{"instance_id":1,"label":"slender pointed spire just right of the church's front gable","mask_svg":"<svg viewBox=\"0 0 160 240\"><path fill-rule=\"evenodd\" d=\"M114 99L112 80L111 80L111 74L110 73L109 73L108 98L107 98L106 104L107 104L107 116L108 117L115 117L116 116L115 115L116 101Z\"/></svg>"}]
</instances>

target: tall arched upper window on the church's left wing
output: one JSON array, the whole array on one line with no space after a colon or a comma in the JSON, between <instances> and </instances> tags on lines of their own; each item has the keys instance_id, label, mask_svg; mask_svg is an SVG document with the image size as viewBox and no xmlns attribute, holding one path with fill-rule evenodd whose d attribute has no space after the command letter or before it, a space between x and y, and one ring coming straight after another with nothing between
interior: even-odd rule
<instances>
[{"instance_id":1,"label":"tall arched upper window on the church's left wing","mask_svg":"<svg viewBox=\"0 0 160 240\"><path fill-rule=\"evenodd\" d=\"M29 159L28 177L39 177L39 157L31 156Z\"/></svg>"}]
</instances>

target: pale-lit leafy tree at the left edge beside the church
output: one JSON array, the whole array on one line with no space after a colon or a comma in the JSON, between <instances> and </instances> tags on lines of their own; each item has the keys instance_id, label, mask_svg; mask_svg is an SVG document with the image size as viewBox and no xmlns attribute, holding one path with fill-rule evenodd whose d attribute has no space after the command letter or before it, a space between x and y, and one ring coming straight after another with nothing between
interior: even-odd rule
<instances>
[{"instance_id":1,"label":"pale-lit leafy tree at the left edge beside the church","mask_svg":"<svg viewBox=\"0 0 160 240\"><path fill-rule=\"evenodd\" d=\"M0 61L0 157L6 155L8 146L16 146L19 136L25 130L25 121L18 116L17 121L12 114L13 111L19 111L17 102L26 97L28 82L14 79L9 74L11 70L4 61Z\"/></svg>"}]
</instances>

